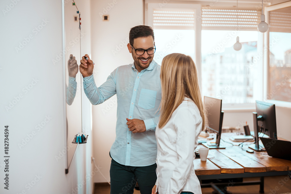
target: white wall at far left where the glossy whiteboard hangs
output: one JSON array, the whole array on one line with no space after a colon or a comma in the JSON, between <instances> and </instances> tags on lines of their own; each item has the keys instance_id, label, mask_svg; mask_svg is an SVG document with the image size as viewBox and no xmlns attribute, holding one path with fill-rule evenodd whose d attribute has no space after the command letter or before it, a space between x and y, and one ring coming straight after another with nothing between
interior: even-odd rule
<instances>
[{"instance_id":1,"label":"white wall at far left where the glossy whiteboard hangs","mask_svg":"<svg viewBox=\"0 0 291 194\"><path fill-rule=\"evenodd\" d=\"M88 102L84 102L87 109L84 114L89 119L83 121L83 128L89 129L88 143L79 145L67 175L65 157L56 160L65 149L64 64L62 61L52 63L62 52L61 1L3 0L0 8L3 22L0 134L3 142L4 125L9 125L10 155L9 190L6 190L3 188L4 142L1 143L0 193L74 193L79 190L78 193L91 194L93 179L88 174L91 173L92 136ZM89 38L90 35L87 41ZM24 46L15 49L20 43ZM84 47L90 50L90 46ZM12 108L6 110L9 104ZM42 127L40 130L36 128L38 124ZM22 142L25 145L19 148Z\"/></svg>"}]
</instances>

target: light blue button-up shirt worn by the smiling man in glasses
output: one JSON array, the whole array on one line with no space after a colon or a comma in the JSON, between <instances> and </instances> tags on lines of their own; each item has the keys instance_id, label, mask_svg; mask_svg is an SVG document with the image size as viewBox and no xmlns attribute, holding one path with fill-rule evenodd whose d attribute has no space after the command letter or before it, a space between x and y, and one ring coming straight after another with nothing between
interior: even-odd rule
<instances>
[{"instance_id":1,"label":"light blue button-up shirt worn by the smiling man in glasses","mask_svg":"<svg viewBox=\"0 0 291 194\"><path fill-rule=\"evenodd\" d=\"M138 72L134 63L115 69L107 81L96 87L93 75L84 78L84 91L93 105L117 96L116 138L111 157L126 166L149 166L157 158L155 129L161 102L161 66L154 60ZM126 118L144 121L146 132L132 133Z\"/></svg>"}]
</instances>

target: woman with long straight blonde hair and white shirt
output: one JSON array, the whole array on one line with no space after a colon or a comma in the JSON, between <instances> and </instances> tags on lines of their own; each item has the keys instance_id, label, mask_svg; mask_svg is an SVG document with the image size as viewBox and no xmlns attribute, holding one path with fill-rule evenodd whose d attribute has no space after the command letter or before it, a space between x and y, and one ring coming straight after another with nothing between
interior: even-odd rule
<instances>
[{"instance_id":1,"label":"woman with long straight blonde hair and white shirt","mask_svg":"<svg viewBox=\"0 0 291 194\"><path fill-rule=\"evenodd\" d=\"M184 54L167 55L160 77L157 181L152 194L201 194L193 160L198 135L205 125L205 114L195 64Z\"/></svg>"}]
</instances>

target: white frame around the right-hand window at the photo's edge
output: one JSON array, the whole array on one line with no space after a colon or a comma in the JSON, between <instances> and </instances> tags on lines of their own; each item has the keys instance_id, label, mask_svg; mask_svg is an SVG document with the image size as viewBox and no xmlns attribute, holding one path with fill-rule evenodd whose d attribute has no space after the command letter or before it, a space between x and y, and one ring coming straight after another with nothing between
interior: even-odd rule
<instances>
[{"instance_id":1,"label":"white frame around the right-hand window at the photo's edge","mask_svg":"<svg viewBox=\"0 0 291 194\"><path fill-rule=\"evenodd\" d=\"M291 7L291 1L285 2L285 3L279 3L276 5L272 6L267 6L265 7L264 14L265 14L265 19L266 22L269 24L269 12L282 9L282 8L287 8ZM264 45L269 48L269 34L270 30L268 30L266 33L264 33ZM267 101L268 103L275 104L278 107L285 107L285 108L291 108L291 102L285 102L285 101L279 101L279 100L267 100L268 96L268 84L269 84L269 49L264 50L264 66L263 66L263 98L262 100Z\"/></svg>"}]
</instances>

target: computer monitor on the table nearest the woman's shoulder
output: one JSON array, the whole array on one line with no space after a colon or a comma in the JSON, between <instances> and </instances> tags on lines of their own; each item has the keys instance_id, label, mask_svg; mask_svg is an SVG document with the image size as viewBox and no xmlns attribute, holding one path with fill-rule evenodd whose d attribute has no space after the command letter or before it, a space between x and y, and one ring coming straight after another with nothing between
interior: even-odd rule
<instances>
[{"instance_id":1,"label":"computer monitor on the table nearest the woman's shoulder","mask_svg":"<svg viewBox=\"0 0 291 194\"><path fill-rule=\"evenodd\" d=\"M222 131L223 111L221 111L222 100L204 96L204 106L206 110L208 124L206 129L216 133L215 143L203 143L207 148L225 148L220 145Z\"/></svg>"}]
</instances>

